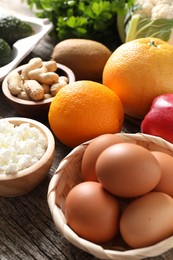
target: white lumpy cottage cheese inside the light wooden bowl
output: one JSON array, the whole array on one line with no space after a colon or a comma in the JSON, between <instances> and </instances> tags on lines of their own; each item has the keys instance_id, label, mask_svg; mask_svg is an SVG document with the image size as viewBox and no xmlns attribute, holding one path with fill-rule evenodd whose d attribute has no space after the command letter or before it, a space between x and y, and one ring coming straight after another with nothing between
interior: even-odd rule
<instances>
[{"instance_id":1,"label":"white lumpy cottage cheese inside the light wooden bowl","mask_svg":"<svg viewBox=\"0 0 173 260\"><path fill-rule=\"evenodd\" d=\"M0 120L0 174L14 174L36 163L45 153L45 136L29 123L14 126Z\"/></svg>"}]
</instances>

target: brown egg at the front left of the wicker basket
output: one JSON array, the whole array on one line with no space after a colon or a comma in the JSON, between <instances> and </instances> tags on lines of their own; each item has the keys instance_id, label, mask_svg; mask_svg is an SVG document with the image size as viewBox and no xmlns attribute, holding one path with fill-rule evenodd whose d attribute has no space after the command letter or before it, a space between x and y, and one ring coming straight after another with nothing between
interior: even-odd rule
<instances>
[{"instance_id":1,"label":"brown egg at the front left of the wicker basket","mask_svg":"<svg viewBox=\"0 0 173 260\"><path fill-rule=\"evenodd\" d=\"M118 232L119 204L100 183L83 182L68 193L65 218L80 237L94 243L104 243Z\"/></svg>"}]
</instances>

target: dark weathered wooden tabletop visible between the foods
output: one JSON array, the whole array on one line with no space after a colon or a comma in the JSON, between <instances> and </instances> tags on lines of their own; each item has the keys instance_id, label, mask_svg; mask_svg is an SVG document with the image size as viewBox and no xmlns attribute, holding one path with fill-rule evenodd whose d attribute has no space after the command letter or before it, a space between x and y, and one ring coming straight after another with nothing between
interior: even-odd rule
<instances>
[{"instance_id":1,"label":"dark weathered wooden tabletop visible between the foods","mask_svg":"<svg viewBox=\"0 0 173 260\"><path fill-rule=\"evenodd\" d=\"M21 11L33 16L32 12L20 0L0 0L0 7L12 7L12 11ZM31 18L32 19L32 18ZM53 50L51 39L46 36L30 53L23 63L30 58L40 56L48 60ZM0 117L19 116L6 103L0 90ZM47 124L47 122L45 122ZM139 127L124 123L123 131L135 133ZM56 139L54 163L47 178L27 195L4 198L0 197L0 260L94 260L94 256L71 245L56 230L47 204L47 190L50 179L59 162L70 152ZM171 260L173 250L165 254L147 258L148 260Z\"/></svg>"}]
</instances>

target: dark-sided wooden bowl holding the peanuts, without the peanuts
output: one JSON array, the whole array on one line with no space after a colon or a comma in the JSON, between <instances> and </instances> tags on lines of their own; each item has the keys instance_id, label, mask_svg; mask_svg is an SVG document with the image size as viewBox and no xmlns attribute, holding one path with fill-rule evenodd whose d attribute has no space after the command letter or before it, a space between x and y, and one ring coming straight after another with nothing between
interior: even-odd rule
<instances>
[{"instance_id":1,"label":"dark-sided wooden bowl holding the peanuts, without the peanuts","mask_svg":"<svg viewBox=\"0 0 173 260\"><path fill-rule=\"evenodd\" d=\"M20 72L24 66L25 65L20 66L15 70ZM59 63L57 63L57 66L58 66L57 73L59 76L66 76L69 80L69 83L75 81L75 75L71 69ZM37 102L17 98L13 96L8 89L7 77L5 77L4 81L2 82L2 92L7 102L9 102L10 106L20 116L33 118L39 121L47 120L49 107L53 97L42 101L37 101Z\"/></svg>"}]
</instances>

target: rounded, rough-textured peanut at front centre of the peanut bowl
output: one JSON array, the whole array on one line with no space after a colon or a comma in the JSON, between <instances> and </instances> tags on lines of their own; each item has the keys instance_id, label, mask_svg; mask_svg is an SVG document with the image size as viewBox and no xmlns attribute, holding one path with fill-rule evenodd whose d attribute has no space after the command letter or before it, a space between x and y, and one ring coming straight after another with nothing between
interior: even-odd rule
<instances>
[{"instance_id":1,"label":"rounded, rough-textured peanut at front centre of the peanut bowl","mask_svg":"<svg viewBox=\"0 0 173 260\"><path fill-rule=\"evenodd\" d=\"M28 96L34 100L39 101L44 97L44 90L42 86L36 80L26 80L24 88Z\"/></svg>"}]
</instances>

